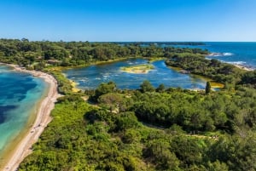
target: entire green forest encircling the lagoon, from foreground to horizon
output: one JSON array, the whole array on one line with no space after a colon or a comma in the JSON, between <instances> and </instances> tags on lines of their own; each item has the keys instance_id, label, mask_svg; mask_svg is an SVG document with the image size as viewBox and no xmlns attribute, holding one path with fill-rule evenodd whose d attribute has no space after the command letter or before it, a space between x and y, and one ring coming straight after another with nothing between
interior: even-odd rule
<instances>
[{"instance_id":1,"label":"entire green forest encircling the lagoon, from foreground to horizon","mask_svg":"<svg viewBox=\"0 0 256 171\"><path fill-rule=\"evenodd\" d=\"M207 60L199 48L144 45L0 40L1 62L54 75L63 94L20 171L256 170L256 71ZM121 90L109 82L73 93L56 67L129 57L165 57L167 65L225 87L211 91L209 82L190 91L144 81Z\"/></svg>"}]
</instances>

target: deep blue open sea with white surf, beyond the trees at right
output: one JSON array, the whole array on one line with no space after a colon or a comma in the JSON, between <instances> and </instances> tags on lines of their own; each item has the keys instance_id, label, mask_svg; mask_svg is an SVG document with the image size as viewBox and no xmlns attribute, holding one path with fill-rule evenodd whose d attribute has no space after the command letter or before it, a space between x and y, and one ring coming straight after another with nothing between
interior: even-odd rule
<instances>
[{"instance_id":1,"label":"deep blue open sea with white surf, beyond the trees at right","mask_svg":"<svg viewBox=\"0 0 256 171\"><path fill-rule=\"evenodd\" d=\"M256 43L211 43L204 46L176 46L181 48L208 49L214 55L210 59L222 60L230 64L238 64L256 69Z\"/></svg>"}]
</instances>

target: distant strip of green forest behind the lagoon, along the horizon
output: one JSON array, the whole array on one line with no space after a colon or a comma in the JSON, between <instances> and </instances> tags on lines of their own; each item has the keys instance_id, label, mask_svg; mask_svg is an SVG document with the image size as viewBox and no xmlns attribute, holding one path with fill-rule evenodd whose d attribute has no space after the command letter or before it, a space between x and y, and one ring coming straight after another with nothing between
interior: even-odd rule
<instances>
[{"instance_id":1,"label":"distant strip of green forest behind the lagoon, along the horizon","mask_svg":"<svg viewBox=\"0 0 256 171\"><path fill-rule=\"evenodd\" d=\"M169 57L173 53L208 54L200 48L161 48L154 43L30 42L0 39L0 61L30 69L46 66L84 66L96 61L127 57Z\"/></svg>"}]
</instances>

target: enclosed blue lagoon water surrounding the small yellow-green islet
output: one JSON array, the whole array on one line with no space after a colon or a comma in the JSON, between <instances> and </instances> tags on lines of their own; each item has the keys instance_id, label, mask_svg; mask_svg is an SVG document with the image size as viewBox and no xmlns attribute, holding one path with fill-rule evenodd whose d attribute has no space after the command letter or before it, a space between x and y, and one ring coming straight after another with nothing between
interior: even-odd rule
<instances>
[{"instance_id":1,"label":"enclosed blue lagoon water surrounding the small yellow-green islet","mask_svg":"<svg viewBox=\"0 0 256 171\"><path fill-rule=\"evenodd\" d=\"M155 61L152 63L154 70L147 74L133 74L120 70L122 66L137 66L147 64L148 60L130 59L118 61L108 64L88 66L79 69L70 69L64 71L67 78L79 83L78 88L92 89L96 88L100 83L113 81L118 88L139 88L139 85L144 80L148 80L157 88L160 83L166 87L181 87L181 88L205 88L206 81L200 77L182 74L174 71L166 66L164 60Z\"/></svg>"}]
</instances>

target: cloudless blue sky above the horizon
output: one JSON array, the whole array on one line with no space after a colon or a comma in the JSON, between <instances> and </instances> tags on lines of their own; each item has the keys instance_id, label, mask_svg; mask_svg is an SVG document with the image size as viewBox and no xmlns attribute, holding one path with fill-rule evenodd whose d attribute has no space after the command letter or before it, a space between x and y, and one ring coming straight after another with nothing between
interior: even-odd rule
<instances>
[{"instance_id":1,"label":"cloudless blue sky above the horizon","mask_svg":"<svg viewBox=\"0 0 256 171\"><path fill-rule=\"evenodd\" d=\"M256 0L3 0L0 37L253 41Z\"/></svg>"}]
</instances>

